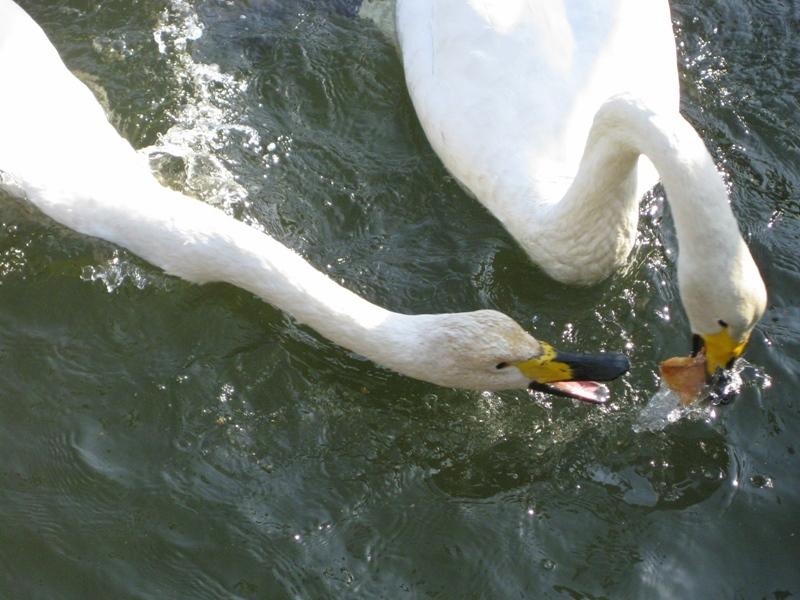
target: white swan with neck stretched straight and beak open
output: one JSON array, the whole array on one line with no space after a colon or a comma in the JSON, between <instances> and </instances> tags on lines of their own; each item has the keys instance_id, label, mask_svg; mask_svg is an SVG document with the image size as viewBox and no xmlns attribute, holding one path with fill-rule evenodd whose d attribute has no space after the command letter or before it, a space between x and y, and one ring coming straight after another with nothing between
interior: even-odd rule
<instances>
[{"instance_id":1,"label":"white swan with neck stretched straight and beak open","mask_svg":"<svg viewBox=\"0 0 800 600\"><path fill-rule=\"evenodd\" d=\"M621 354L559 354L494 311L385 310L270 236L164 188L41 28L11 0L0 0L0 82L0 187L170 274L244 288L337 344L443 386L532 385L601 402L605 388L581 380L610 380L628 368Z\"/></svg>"}]
</instances>

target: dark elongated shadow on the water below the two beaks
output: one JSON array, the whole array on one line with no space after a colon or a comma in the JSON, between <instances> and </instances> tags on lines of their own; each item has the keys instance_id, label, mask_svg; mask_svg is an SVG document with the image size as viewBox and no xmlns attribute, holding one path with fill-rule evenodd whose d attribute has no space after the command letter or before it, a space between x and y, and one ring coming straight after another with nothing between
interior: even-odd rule
<instances>
[{"instance_id":1,"label":"dark elongated shadow on the water below the two beaks","mask_svg":"<svg viewBox=\"0 0 800 600\"><path fill-rule=\"evenodd\" d=\"M604 502L682 510L711 498L729 485L729 458L721 434L703 432L700 439L685 438L686 429L669 434L637 436L627 446L608 440L603 447L591 432L537 454L530 441L502 440L465 460L444 466L432 476L442 491L455 498L487 499L498 494L533 488L551 482L560 490L598 486ZM591 492L584 492L590 493ZM593 502L593 510L602 504Z\"/></svg>"}]
</instances>

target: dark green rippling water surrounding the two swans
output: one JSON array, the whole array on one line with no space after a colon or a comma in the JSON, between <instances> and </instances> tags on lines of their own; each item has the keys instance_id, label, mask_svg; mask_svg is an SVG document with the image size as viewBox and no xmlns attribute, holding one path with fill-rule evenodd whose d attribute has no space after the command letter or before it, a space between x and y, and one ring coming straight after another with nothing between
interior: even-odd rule
<instances>
[{"instance_id":1,"label":"dark green rippling water surrounding the two swans","mask_svg":"<svg viewBox=\"0 0 800 600\"><path fill-rule=\"evenodd\" d=\"M394 310L492 307L635 366L599 409L436 388L2 196L0 597L800 594L800 4L672 3L770 303L734 404L644 426L689 347L658 190L625 272L555 284L448 177L371 22L22 4L170 185Z\"/></svg>"}]
</instances>

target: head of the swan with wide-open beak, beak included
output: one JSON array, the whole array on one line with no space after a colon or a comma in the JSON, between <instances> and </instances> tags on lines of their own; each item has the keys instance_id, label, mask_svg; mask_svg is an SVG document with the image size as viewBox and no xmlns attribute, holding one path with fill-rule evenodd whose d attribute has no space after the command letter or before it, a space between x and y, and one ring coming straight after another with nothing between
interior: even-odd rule
<instances>
[{"instance_id":1,"label":"head of the swan with wide-open beak, beak included","mask_svg":"<svg viewBox=\"0 0 800 600\"><path fill-rule=\"evenodd\" d=\"M611 381L630 368L619 353L573 354L540 342L510 317L492 310L431 316L421 356L447 387L478 390L529 388L585 402L603 403Z\"/></svg>"}]
</instances>

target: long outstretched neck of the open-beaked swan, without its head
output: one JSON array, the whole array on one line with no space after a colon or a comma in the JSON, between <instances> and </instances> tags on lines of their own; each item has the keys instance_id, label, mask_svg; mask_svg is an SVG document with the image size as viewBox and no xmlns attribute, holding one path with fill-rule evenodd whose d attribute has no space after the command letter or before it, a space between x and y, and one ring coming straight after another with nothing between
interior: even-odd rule
<instances>
[{"instance_id":1,"label":"long outstretched neck of the open-beaked swan, without its head","mask_svg":"<svg viewBox=\"0 0 800 600\"><path fill-rule=\"evenodd\" d=\"M43 212L71 229L119 244L188 281L248 290L345 348L430 379L419 367L426 366L424 338L436 315L403 315L376 306L269 235L164 188L142 171L127 182L98 179L107 183L77 193L26 182L21 187Z\"/></svg>"}]
</instances>

